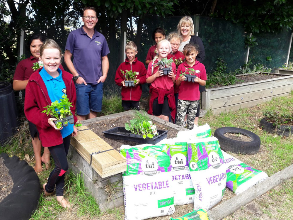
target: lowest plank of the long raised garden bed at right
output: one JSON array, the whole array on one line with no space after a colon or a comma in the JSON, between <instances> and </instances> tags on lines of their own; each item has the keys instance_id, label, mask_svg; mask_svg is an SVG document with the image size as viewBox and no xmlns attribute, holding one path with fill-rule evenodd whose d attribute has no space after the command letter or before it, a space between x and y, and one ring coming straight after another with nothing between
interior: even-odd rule
<instances>
[{"instance_id":1,"label":"lowest plank of the long raised garden bed at right","mask_svg":"<svg viewBox=\"0 0 293 220\"><path fill-rule=\"evenodd\" d=\"M289 94L290 94L290 92L287 92L284 94L279 94L279 95L267 97L264 99L257 99L257 100L248 101L248 102L241 103L241 104L234 104L234 105L230 105L230 106L226 106L226 107L222 107L222 108L212 109L212 111L214 114L219 114L222 112L229 112L229 111L236 111L238 109L250 108L250 107L256 106L259 103L269 101L274 97L289 96Z\"/></svg>"}]
</instances>

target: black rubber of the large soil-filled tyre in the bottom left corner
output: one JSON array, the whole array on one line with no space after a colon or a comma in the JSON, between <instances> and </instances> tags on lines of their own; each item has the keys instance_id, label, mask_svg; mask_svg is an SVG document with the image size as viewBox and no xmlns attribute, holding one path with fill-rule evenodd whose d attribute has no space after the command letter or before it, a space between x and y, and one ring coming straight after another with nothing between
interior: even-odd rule
<instances>
[{"instance_id":1,"label":"black rubber of the large soil-filled tyre in the bottom left corner","mask_svg":"<svg viewBox=\"0 0 293 220\"><path fill-rule=\"evenodd\" d=\"M33 167L17 156L9 157L1 153L9 175L13 180L12 193L0 202L1 220L27 220L38 208L40 181Z\"/></svg>"}]
</instances>

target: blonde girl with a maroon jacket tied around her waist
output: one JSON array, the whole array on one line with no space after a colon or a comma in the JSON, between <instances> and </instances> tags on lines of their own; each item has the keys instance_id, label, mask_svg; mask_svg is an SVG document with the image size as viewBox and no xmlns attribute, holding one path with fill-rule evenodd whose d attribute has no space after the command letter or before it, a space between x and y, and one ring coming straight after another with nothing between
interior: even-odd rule
<instances>
[{"instance_id":1,"label":"blonde girl with a maroon jacket tied around her waist","mask_svg":"<svg viewBox=\"0 0 293 220\"><path fill-rule=\"evenodd\" d=\"M163 70L159 70L159 66L156 66L159 60L167 58L171 52L171 44L168 40L161 40L156 50L158 51L158 56L155 56L153 61L149 63L146 76L147 83L151 83L148 114L169 121L171 112L171 118L175 121L174 83L176 76L174 72L176 72L176 65L172 62L172 70L166 76L163 75Z\"/></svg>"}]
</instances>

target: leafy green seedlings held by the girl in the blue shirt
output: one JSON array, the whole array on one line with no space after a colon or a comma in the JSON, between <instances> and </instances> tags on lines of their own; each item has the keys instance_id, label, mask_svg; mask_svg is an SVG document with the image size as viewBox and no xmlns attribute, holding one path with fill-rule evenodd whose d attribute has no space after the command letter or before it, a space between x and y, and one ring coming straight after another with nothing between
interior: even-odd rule
<instances>
[{"instance_id":1,"label":"leafy green seedlings held by the girl in the blue shirt","mask_svg":"<svg viewBox=\"0 0 293 220\"><path fill-rule=\"evenodd\" d=\"M72 107L72 102L69 102L69 99L67 98L67 95L63 94L62 99L59 99L51 103L51 105L47 105L44 111L42 113L46 113L47 116L51 115L52 117L56 118L57 120L60 119L66 119L67 116L72 115L70 107ZM66 119L66 122L64 124L67 124L68 121ZM62 123L58 121L56 123L56 127L59 129L62 127Z\"/></svg>"}]
</instances>

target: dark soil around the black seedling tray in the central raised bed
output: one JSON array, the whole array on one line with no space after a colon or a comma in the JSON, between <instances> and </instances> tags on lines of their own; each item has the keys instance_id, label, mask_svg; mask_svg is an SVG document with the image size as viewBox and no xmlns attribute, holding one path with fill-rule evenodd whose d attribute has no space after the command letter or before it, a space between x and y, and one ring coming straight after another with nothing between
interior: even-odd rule
<instances>
[{"instance_id":1,"label":"dark soil around the black seedling tray in the central raised bed","mask_svg":"<svg viewBox=\"0 0 293 220\"><path fill-rule=\"evenodd\" d=\"M104 136L103 131L107 131L111 128L115 127L125 127L125 123L129 122L129 120L132 119L131 116L122 116L121 118L107 120L107 121L99 121L93 124L88 125L88 128L90 128L93 132L95 132L100 138L102 138L104 141L106 141L109 145L111 145L115 150L119 151L122 144L124 145L130 145L135 146L139 143L132 142L132 141L123 141L123 140L116 140L111 138L106 138ZM154 123L154 122L153 122ZM154 123L156 124L156 123ZM177 136L177 131L168 128L166 126L161 126L156 124L157 130L167 130L167 138L174 138Z\"/></svg>"}]
</instances>

